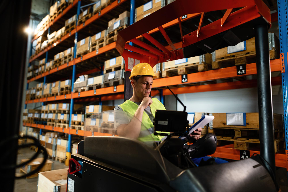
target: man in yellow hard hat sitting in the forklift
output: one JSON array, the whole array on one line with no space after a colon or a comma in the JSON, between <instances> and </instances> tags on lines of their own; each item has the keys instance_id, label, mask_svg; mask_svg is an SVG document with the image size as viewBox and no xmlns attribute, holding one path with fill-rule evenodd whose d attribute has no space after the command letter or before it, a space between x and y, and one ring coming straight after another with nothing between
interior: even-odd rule
<instances>
[{"instance_id":1,"label":"man in yellow hard hat sitting in the forklift","mask_svg":"<svg viewBox=\"0 0 288 192\"><path fill-rule=\"evenodd\" d=\"M149 97L153 79L156 78L159 77L154 74L152 67L148 63L140 63L133 67L129 77L133 87L133 96L114 109L114 125L119 136L140 141L160 141L163 138L153 134L153 121L156 109L166 110L157 98L151 99ZM134 116L129 118L129 114ZM198 140L201 136L201 131L202 128L199 128L190 136Z\"/></svg>"}]
</instances>

